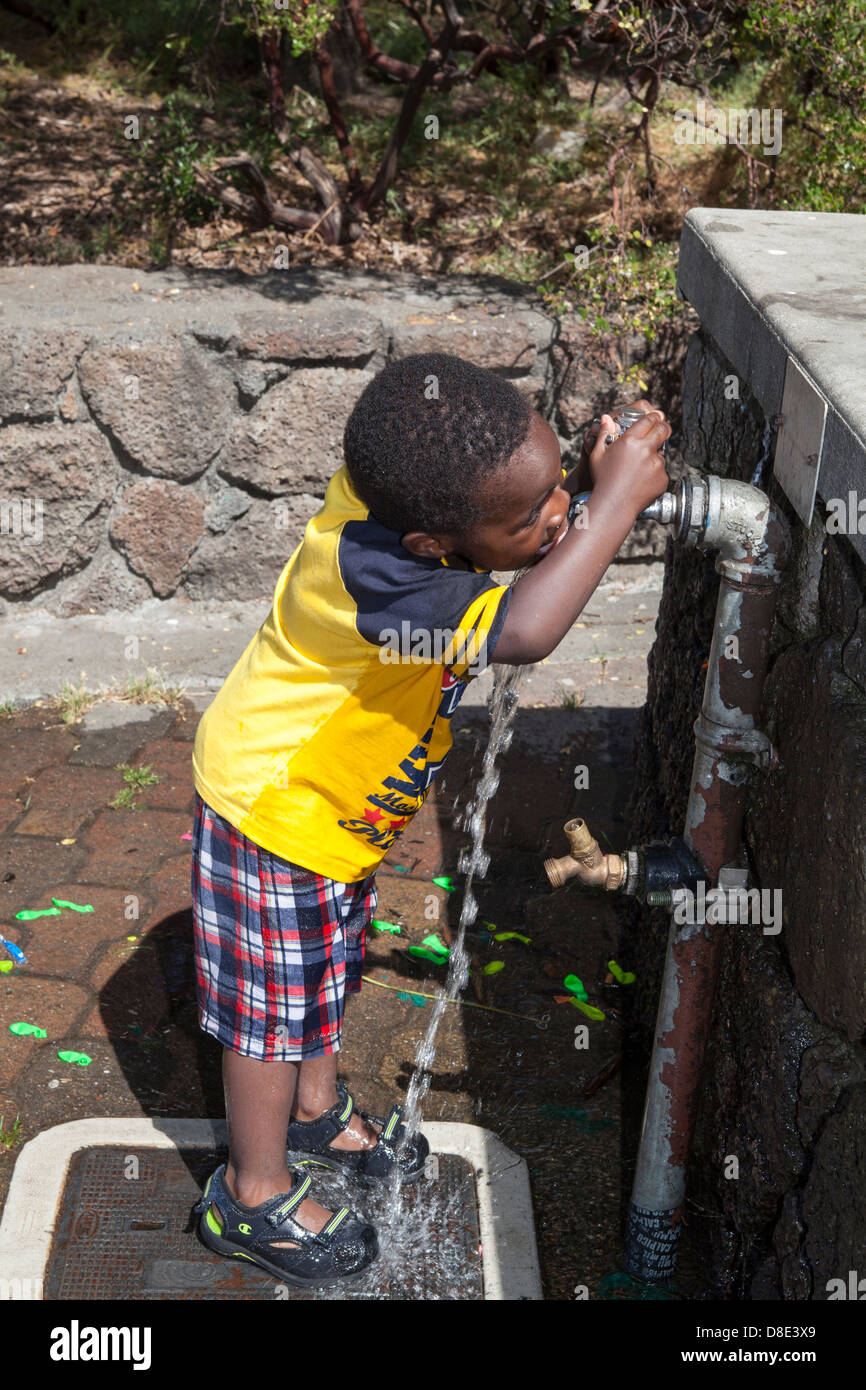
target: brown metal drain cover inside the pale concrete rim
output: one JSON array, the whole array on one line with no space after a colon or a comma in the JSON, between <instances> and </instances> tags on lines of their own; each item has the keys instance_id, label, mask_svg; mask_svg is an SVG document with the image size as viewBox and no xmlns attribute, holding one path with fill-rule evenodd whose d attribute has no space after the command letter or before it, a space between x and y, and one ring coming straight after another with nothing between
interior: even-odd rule
<instances>
[{"instance_id":1,"label":"brown metal drain cover inside the pale concrete rim","mask_svg":"<svg viewBox=\"0 0 866 1390\"><path fill-rule=\"evenodd\" d=\"M385 1194L316 1176L322 1205L354 1207L379 1229L379 1258L361 1279L321 1290L281 1284L264 1269L209 1251L190 1223L225 1154L203 1148L83 1148L74 1154L49 1257L49 1300L481 1300L473 1166L438 1155L438 1177L403 1188L389 1240ZM193 1218L197 1222L197 1218Z\"/></svg>"}]
</instances>

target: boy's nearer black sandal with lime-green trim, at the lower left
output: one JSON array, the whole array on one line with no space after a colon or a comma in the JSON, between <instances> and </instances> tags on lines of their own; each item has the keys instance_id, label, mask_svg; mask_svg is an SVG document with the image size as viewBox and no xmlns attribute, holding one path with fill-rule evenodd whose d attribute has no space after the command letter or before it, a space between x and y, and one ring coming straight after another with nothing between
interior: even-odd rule
<instances>
[{"instance_id":1,"label":"boy's nearer black sandal with lime-green trim, at the lower left","mask_svg":"<svg viewBox=\"0 0 866 1390\"><path fill-rule=\"evenodd\" d=\"M220 1255L249 1259L297 1289L356 1279L378 1255L375 1227L342 1207L318 1234L307 1230L292 1212L307 1195L310 1183L309 1175L299 1175L291 1194L278 1193L260 1207L245 1207L228 1190L224 1163L207 1179L193 1207L202 1216L199 1236ZM214 1207L222 1225L211 1211ZM297 1248L274 1244L279 1240L297 1241Z\"/></svg>"}]
</instances>

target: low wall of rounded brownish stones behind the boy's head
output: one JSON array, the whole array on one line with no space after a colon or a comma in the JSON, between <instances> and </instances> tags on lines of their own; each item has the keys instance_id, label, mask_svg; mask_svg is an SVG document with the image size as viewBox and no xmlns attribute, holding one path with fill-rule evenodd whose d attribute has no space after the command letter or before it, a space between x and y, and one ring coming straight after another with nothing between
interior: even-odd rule
<instances>
[{"instance_id":1,"label":"low wall of rounded brownish stones behind the boy's head","mask_svg":"<svg viewBox=\"0 0 866 1390\"><path fill-rule=\"evenodd\" d=\"M395 357L450 352L505 374L552 420L566 461L623 399L621 353L500 279L17 267L0 296L7 609L268 595L342 461L354 400ZM677 342L655 357L664 392ZM623 553L653 552L657 528L642 523Z\"/></svg>"}]
</instances>

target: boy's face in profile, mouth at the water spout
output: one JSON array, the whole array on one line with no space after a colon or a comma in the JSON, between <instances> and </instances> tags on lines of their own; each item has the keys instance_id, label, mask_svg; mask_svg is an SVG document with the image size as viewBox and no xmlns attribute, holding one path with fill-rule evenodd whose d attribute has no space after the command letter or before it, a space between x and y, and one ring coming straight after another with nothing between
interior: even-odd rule
<instances>
[{"instance_id":1,"label":"boy's face in profile, mouth at the water spout","mask_svg":"<svg viewBox=\"0 0 866 1390\"><path fill-rule=\"evenodd\" d=\"M520 570L541 559L541 546L564 532L571 495L563 486L559 441L535 411L520 449L489 480L484 520L464 535L402 537L413 555L466 560L482 570Z\"/></svg>"}]
</instances>

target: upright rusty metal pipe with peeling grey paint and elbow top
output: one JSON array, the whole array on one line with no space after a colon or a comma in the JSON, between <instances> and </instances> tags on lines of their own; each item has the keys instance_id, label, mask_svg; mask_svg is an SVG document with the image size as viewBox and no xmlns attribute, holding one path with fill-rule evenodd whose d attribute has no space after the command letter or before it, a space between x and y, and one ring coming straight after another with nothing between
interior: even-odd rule
<instances>
[{"instance_id":1,"label":"upright rusty metal pipe with peeling grey paint and elbow top","mask_svg":"<svg viewBox=\"0 0 866 1390\"><path fill-rule=\"evenodd\" d=\"M677 502L678 538L719 550L721 575L684 830L709 890L738 858L751 767L774 764L758 717L790 532L769 498L746 482L685 480ZM671 917L626 1232L624 1266L635 1279L660 1283L676 1270L721 930Z\"/></svg>"}]
</instances>

